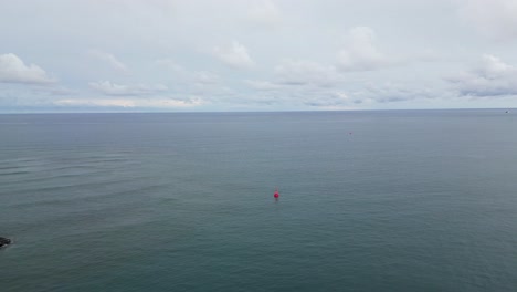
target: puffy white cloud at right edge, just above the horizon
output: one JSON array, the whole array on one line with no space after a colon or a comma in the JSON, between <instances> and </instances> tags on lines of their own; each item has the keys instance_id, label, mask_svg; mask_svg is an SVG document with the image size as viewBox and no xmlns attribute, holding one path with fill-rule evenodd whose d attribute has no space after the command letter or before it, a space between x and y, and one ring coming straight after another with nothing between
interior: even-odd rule
<instances>
[{"instance_id":1,"label":"puffy white cloud at right edge, just above the horizon","mask_svg":"<svg viewBox=\"0 0 517 292\"><path fill-rule=\"evenodd\" d=\"M475 67L445 79L461 96L517 95L517 69L497 56L485 54Z\"/></svg>"}]
</instances>

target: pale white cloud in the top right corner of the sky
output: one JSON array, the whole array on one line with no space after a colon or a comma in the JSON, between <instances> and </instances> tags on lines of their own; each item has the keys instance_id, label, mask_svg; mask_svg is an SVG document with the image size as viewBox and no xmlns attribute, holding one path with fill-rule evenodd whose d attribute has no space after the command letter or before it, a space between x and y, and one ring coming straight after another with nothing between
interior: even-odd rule
<instances>
[{"instance_id":1,"label":"pale white cloud in the top right corner of the sky","mask_svg":"<svg viewBox=\"0 0 517 292\"><path fill-rule=\"evenodd\" d=\"M517 38L517 1L457 0L460 15L484 35L509 40Z\"/></svg>"}]
</instances>

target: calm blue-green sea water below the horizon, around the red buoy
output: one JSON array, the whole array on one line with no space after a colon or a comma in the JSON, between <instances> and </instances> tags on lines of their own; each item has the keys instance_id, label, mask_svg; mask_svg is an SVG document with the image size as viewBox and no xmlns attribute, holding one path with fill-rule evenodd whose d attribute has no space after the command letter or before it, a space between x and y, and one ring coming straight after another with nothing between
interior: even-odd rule
<instances>
[{"instance_id":1,"label":"calm blue-green sea water below the horizon, around the red buoy","mask_svg":"<svg viewBox=\"0 0 517 292\"><path fill-rule=\"evenodd\" d=\"M2 236L6 292L515 291L517 113L0 115Z\"/></svg>"}]
</instances>

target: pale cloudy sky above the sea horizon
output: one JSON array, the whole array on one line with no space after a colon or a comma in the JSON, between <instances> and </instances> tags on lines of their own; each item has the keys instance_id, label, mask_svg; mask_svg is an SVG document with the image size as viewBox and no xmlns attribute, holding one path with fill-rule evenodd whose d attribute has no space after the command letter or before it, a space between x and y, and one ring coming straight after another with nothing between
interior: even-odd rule
<instances>
[{"instance_id":1,"label":"pale cloudy sky above the sea horizon","mask_svg":"<svg viewBox=\"0 0 517 292\"><path fill-rule=\"evenodd\" d=\"M0 8L0 113L517 107L516 0Z\"/></svg>"}]
</instances>

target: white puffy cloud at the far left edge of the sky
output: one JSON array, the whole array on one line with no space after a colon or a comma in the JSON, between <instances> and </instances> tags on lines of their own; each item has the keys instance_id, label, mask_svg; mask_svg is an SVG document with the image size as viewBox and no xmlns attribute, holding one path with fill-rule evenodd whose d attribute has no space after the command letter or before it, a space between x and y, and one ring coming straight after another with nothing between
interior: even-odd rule
<instances>
[{"instance_id":1,"label":"white puffy cloud at the far left edge of the sky","mask_svg":"<svg viewBox=\"0 0 517 292\"><path fill-rule=\"evenodd\" d=\"M0 83L49 84L55 80L38 65L25 65L15 54L0 54Z\"/></svg>"}]
</instances>

